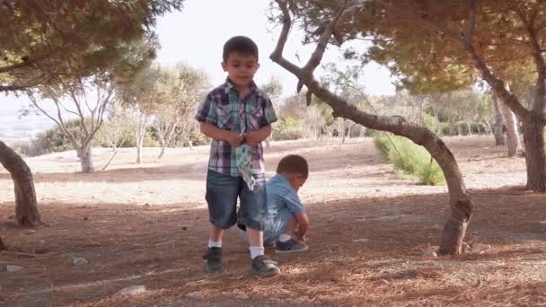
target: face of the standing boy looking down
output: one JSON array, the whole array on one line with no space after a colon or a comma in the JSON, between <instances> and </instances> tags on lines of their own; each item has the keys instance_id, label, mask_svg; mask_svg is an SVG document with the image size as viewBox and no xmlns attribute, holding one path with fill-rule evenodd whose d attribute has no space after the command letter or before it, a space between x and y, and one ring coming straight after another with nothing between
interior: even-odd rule
<instances>
[{"instance_id":1,"label":"face of the standing boy looking down","mask_svg":"<svg viewBox=\"0 0 546 307\"><path fill-rule=\"evenodd\" d=\"M227 62L222 62L222 68L227 72L229 79L239 88L247 87L252 83L259 67L258 58L244 56L239 52L230 53Z\"/></svg>"}]
</instances>

